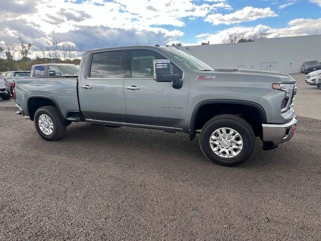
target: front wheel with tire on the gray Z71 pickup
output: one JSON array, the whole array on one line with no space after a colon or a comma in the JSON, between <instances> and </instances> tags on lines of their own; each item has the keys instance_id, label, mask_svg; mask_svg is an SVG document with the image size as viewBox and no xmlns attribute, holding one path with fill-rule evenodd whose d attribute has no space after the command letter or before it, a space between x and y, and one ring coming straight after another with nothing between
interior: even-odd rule
<instances>
[{"instance_id":1,"label":"front wheel with tire on the gray Z71 pickup","mask_svg":"<svg viewBox=\"0 0 321 241\"><path fill-rule=\"evenodd\" d=\"M207 159L232 166L248 160L255 147L255 134L245 119L233 114L221 114L203 127L200 147Z\"/></svg>"}]
</instances>

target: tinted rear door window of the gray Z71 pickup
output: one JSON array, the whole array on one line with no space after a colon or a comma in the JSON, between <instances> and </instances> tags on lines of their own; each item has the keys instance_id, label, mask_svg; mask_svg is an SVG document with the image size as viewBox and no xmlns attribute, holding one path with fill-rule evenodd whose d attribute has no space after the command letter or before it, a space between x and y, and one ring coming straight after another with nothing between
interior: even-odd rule
<instances>
[{"instance_id":1,"label":"tinted rear door window of the gray Z71 pickup","mask_svg":"<svg viewBox=\"0 0 321 241\"><path fill-rule=\"evenodd\" d=\"M96 53L92 56L90 77L124 78L125 71L120 69L122 51Z\"/></svg>"}]
</instances>

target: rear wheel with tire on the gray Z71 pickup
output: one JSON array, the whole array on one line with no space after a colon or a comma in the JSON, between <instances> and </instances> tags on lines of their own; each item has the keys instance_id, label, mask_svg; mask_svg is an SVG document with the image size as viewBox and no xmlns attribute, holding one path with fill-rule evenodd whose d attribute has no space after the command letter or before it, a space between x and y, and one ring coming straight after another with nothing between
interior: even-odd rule
<instances>
[{"instance_id":1,"label":"rear wheel with tire on the gray Z71 pickup","mask_svg":"<svg viewBox=\"0 0 321 241\"><path fill-rule=\"evenodd\" d=\"M55 106L43 106L37 109L34 117L38 134L47 141L56 141L66 132L64 119Z\"/></svg>"}]
</instances>

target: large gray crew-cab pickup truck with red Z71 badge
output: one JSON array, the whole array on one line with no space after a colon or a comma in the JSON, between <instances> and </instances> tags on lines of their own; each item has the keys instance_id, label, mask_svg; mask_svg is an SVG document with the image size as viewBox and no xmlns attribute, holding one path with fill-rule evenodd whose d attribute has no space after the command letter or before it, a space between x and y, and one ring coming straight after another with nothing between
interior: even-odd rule
<instances>
[{"instance_id":1,"label":"large gray crew-cab pickup truck with red Z71 badge","mask_svg":"<svg viewBox=\"0 0 321 241\"><path fill-rule=\"evenodd\" d=\"M295 80L282 73L212 69L179 49L132 46L85 53L78 77L44 76L12 83L19 114L48 141L72 122L184 132L205 157L234 165L296 131Z\"/></svg>"}]
</instances>

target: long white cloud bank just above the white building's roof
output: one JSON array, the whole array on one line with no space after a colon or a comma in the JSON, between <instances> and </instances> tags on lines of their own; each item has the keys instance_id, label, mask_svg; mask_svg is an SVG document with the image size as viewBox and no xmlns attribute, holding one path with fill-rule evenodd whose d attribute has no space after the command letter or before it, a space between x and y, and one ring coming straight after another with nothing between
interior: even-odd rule
<instances>
[{"instance_id":1,"label":"long white cloud bank just above the white building's roof","mask_svg":"<svg viewBox=\"0 0 321 241\"><path fill-rule=\"evenodd\" d=\"M232 27L219 31L216 34L200 34L197 35L198 44L202 42L210 41L210 44L220 44L230 34L241 34L246 39L257 38L262 31L266 31L267 38L278 37L291 37L291 36L303 36L314 35L316 29L321 29L320 19L295 19L288 22L286 28L271 28L265 25L257 25L253 27Z\"/></svg>"}]
</instances>

